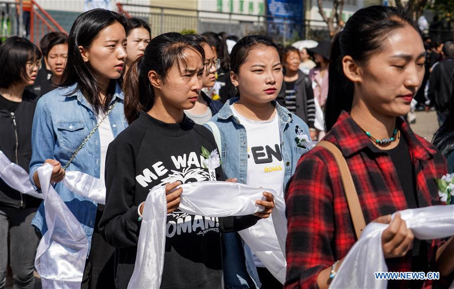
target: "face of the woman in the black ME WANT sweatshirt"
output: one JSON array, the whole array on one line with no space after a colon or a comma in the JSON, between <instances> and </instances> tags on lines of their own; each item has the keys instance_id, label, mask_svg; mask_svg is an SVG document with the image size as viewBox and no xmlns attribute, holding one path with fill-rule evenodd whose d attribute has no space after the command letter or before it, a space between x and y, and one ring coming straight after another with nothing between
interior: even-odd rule
<instances>
[{"instance_id":1,"label":"face of the woman in the black ME WANT sweatshirt","mask_svg":"<svg viewBox=\"0 0 454 289\"><path fill-rule=\"evenodd\" d=\"M202 89L204 74L202 55L190 48L184 51L184 55L187 63L180 65L174 63L161 84L160 92L164 106L191 109Z\"/></svg>"}]
</instances>

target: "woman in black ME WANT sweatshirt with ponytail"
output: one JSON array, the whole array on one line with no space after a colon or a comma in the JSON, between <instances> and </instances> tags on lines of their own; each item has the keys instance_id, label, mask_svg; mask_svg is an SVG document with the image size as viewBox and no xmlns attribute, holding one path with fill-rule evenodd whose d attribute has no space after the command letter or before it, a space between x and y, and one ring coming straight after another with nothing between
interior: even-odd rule
<instances>
[{"instance_id":1,"label":"woman in black ME WANT sweatshirt with ponytail","mask_svg":"<svg viewBox=\"0 0 454 289\"><path fill-rule=\"evenodd\" d=\"M222 288L221 232L267 218L274 206L264 192L262 213L208 218L178 209L182 183L209 180L202 147L214 137L185 114L202 88L203 48L179 33L153 38L133 62L124 83L125 116L132 123L110 143L106 157L106 205L99 230L116 247L115 281L126 288L134 271L143 204L151 188L165 185L167 224L161 288ZM134 122L133 122L134 121ZM216 179L223 181L222 169ZM219 204L222 205L222 204Z\"/></svg>"}]
</instances>

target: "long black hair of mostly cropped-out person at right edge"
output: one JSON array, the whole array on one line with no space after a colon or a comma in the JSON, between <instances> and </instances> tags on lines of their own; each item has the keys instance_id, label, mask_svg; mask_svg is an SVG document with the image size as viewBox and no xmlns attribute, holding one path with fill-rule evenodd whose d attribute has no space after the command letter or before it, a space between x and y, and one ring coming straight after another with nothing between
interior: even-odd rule
<instances>
[{"instance_id":1,"label":"long black hair of mostly cropped-out person at right edge","mask_svg":"<svg viewBox=\"0 0 454 289\"><path fill-rule=\"evenodd\" d=\"M450 152L454 151L454 71L449 77L451 86L451 98L449 99L449 109L446 120L438 128L433 136L433 144L447 157Z\"/></svg>"}]
</instances>

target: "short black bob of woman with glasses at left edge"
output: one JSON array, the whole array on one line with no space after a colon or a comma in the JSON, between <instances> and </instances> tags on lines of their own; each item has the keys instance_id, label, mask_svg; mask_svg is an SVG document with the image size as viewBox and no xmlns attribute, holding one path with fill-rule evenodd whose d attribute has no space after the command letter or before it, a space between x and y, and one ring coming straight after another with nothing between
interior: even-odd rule
<instances>
[{"instance_id":1,"label":"short black bob of woman with glasses at left edge","mask_svg":"<svg viewBox=\"0 0 454 289\"><path fill-rule=\"evenodd\" d=\"M0 87L10 88L27 79L27 62L36 62L41 52L30 40L11 36L0 45Z\"/></svg>"}]
</instances>

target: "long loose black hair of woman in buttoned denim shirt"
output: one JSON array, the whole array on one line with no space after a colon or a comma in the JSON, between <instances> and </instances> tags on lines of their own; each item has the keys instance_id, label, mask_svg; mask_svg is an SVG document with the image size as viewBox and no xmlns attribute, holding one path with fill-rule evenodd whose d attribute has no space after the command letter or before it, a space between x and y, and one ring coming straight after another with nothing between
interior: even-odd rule
<instances>
[{"instance_id":1,"label":"long loose black hair of woman in buttoned denim shirt","mask_svg":"<svg viewBox=\"0 0 454 289\"><path fill-rule=\"evenodd\" d=\"M120 23L126 31L127 20L123 15L105 9L93 9L77 17L69 35L67 65L63 71L61 86L67 87L77 83L76 90L82 91L82 94L88 103L94 107L96 113L100 110L107 110L113 97L111 92L115 89L115 83L121 82L122 78L110 80L108 93L105 96L104 103L101 103L98 82L94 77L90 64L82 59L79 46L90 47L99 32L115 23ZM75 93L75 91L70 92L70 94Z\"/></svg>"}]
</instances>

